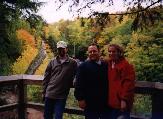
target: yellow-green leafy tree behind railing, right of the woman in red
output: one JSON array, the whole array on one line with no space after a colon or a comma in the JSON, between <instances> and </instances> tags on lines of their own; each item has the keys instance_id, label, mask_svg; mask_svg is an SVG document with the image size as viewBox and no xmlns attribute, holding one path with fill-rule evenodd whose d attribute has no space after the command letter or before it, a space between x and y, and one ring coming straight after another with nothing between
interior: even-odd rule
<instances>
[{"instance_id":1,"label":"yellow-green leafy tree behind railing, right of the woman in red","mask_svg":"<svg viewBox=\"0 0 163 119\"><path fill-rule=\"evenodd\" d=\"M135 64L138 80L162 82L163 38L135 33L126 51L129 60Z\"/></svg>"}]
</instances>

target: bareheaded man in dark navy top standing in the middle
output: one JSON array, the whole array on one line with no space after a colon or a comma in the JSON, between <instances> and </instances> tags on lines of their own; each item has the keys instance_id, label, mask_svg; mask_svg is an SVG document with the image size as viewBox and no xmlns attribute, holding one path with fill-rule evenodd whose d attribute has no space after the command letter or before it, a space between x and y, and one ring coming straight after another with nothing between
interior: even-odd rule
<instances>
[{"instance_id":1,"label":"bareheaded man in dark navy top standing in the middle","mask_svg":"<svg viewBox=\"0 0 163 119\"><path fill-rule=\"evenodd\" d=\"M88 60L78 67L74 92L86 119L108 119L107 71L107 64L100 61L99 47L90 45Z\"/></svg>"}]
</instances>

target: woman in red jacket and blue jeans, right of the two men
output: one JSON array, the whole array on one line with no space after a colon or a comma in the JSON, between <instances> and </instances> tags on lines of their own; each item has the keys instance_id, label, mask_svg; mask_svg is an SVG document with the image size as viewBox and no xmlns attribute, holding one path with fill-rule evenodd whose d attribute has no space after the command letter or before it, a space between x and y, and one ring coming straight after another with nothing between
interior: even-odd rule
<instances>
[{"instance_id":1,"label":"woman in red jacket and blue jeans, right of the two men","mask_svg":"<svg viewBox=\"0 0 163 119\"><path fill-rule=\"evenodd\" d=\"M124 58L123 49L115 44L109 45L108 104L111 108L110 119L130 119L134 100L135 71Z\"/></svg>"}]
</instances>

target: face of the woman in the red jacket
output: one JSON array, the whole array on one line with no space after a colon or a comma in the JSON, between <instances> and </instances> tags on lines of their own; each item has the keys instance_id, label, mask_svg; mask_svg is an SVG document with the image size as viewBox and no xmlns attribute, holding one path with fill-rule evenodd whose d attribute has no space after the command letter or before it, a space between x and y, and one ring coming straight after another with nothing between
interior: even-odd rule
<instances>
[{"instance_id":1,"label":"face of the woman in the red jacket","mask_svg":"<svg viewBox=\"0 0 163 119\"><path fill-rule=\"evenodd\" d=\"M114 46L109 47L108 53L109 53L110 60L117 60L118 59L118 51Z\"/></svg>"}]
</instances>

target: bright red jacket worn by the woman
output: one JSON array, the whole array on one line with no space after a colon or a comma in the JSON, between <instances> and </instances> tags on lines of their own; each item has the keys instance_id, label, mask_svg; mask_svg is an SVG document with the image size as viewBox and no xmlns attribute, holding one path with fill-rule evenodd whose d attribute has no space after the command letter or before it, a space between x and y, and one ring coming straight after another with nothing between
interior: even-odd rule
<instances>
[{"instance_id":1,"label":"bright red jacket worn by the woman","mask_svg":"<svg viewBox=\"0 0 163 119\"><path fill-rule=\"evenodd\" d=\"M126 101L127 110L131 110L134 100L135 71L127 60L122 59L114 68L108 65L109 106L120 109L121 100Z\"/></svg>"}]
</instances>

